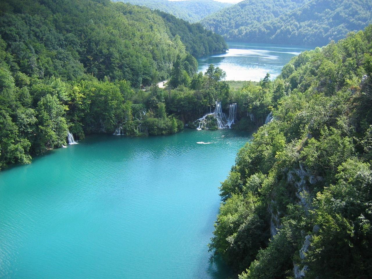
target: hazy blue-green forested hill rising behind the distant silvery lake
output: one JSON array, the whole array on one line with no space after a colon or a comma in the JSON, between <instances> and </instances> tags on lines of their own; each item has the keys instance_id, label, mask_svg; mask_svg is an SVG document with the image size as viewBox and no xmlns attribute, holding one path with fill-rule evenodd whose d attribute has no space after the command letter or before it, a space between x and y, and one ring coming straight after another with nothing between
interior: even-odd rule
<instances>
[{"instance_id":1,"label":"hazy blue-green forested hill rising behind the distant silvery lake","mask_svg":"<svg viewBox=\"0 0 372 279\"><path fill-rule=\"evenodd\" d=\"M372 23L372 1L245 0L201 23L230 41L322 46Z\"/></svg>"}]
</instances>

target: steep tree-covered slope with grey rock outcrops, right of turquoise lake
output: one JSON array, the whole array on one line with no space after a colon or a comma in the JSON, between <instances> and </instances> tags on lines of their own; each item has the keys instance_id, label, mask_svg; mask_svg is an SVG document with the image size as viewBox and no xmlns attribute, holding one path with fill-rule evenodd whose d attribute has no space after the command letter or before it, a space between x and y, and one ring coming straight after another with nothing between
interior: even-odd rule
<instances>
[{"instance_id":1,"label":"steep tree-covered slope with grey rock outcrops, right of turquoise lake","mask_svg":"<svg viewBox=\"0 0 372 279\"><path fill-rule=\"evenodd\" d=\"M372 277L372 25L292 58L221 183L210 248L240 279Z\"/></svg>"}]
</instances>

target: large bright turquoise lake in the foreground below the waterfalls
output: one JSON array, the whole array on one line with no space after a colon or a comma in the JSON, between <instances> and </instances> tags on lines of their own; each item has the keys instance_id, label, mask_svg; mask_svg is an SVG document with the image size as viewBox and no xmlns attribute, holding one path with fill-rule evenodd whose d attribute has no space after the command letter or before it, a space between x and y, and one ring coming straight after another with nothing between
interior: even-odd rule
<instances>
[{"instance_id":1,"label":"large bright turquoise lake in the foreground below the waterfalls","mask_svg":"<svg viewBox=\"0 0 372 279\"><path fill-rule=\"evenodd\" d=\"M1 171L0 278L226 278L207 244L249 137L97 135Z\"/></svg>"}]
</instances>

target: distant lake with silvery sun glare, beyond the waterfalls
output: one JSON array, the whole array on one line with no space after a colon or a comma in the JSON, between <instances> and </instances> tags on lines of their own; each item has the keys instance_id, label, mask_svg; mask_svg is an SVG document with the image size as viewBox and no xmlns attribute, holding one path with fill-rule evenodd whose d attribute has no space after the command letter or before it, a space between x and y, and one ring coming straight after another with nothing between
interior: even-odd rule
<instances>
[{"instance_id":1,"label":"distant lake with silvery sun glare, beyond the waterfalls","mask_svg":"<svg viewBox=\"0 0 372 279\"><path fill-rule=\"evenodd\" d=\"M260 81L270 73L277 77L285 64L295 55L309 48L292 45L246 44L228 42L229 51L198 59L199 71L203 73L209 64L226 72L226 80Z\"/></svg>"}]
</instances>

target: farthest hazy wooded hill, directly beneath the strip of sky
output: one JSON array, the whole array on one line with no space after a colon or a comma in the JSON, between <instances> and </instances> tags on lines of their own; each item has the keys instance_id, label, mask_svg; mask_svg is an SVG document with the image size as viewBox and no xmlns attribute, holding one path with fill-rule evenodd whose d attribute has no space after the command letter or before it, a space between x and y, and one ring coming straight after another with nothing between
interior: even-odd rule
<instances>
[{"instance_id":1,"label":"farthest hazy wooded hill, directly beneath the strip of sky","mask_svg":"<svg viewBox=\"0 0 372 279\"><path fill-rule=\"evenodd\" d=\"M160 10L174 15L180 19L191 23L198 22L204 17L217 12L225 7L231 6L228 3L222 3L214 0L186 0L186 1L168 1L168 0L115 0L130 3L133 5L145 6L151 10Z\"/></svg>"}]
</instances>

